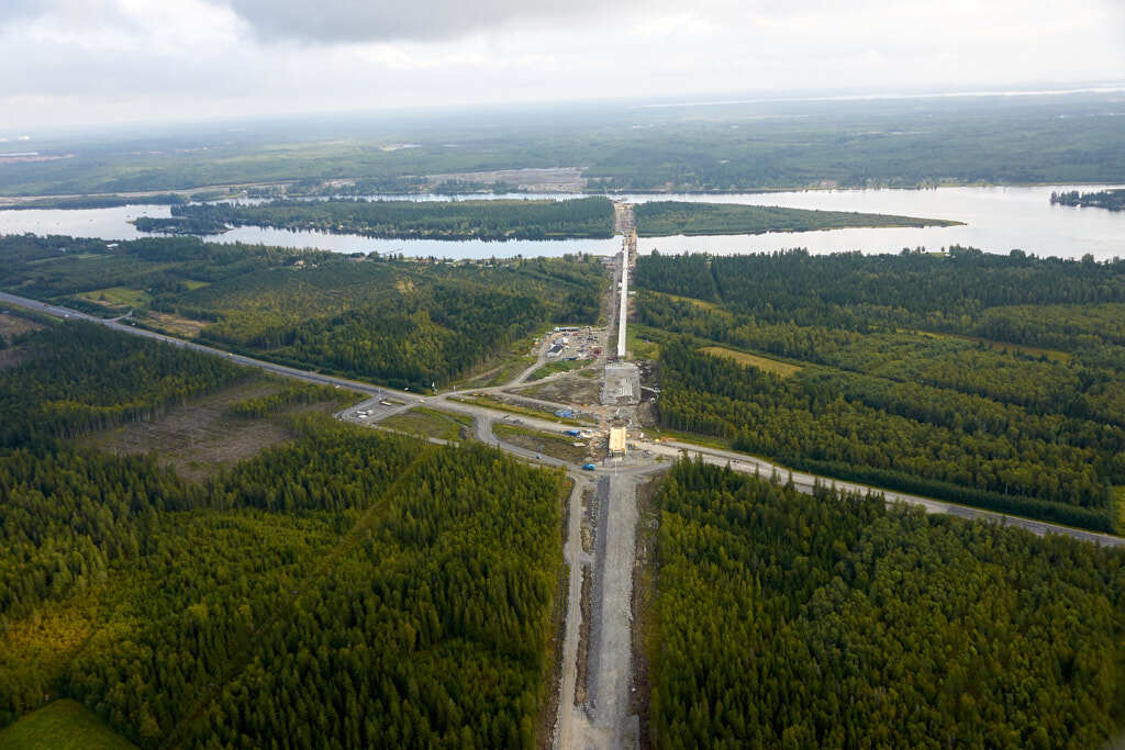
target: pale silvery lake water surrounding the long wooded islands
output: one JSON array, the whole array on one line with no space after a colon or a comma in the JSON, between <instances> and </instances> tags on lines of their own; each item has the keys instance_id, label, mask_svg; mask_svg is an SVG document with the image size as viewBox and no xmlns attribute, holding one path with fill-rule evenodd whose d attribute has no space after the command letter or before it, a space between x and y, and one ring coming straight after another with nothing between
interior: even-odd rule
<instances>
[{"instance_id":1,"label":"pale silvery lake water surrounding the long wooded islands","mask_svg":"<svg viewBox=\"0 0 1125 750\"><path fill-rule=\"evenodd\" d=\"M1125 257L1125 213L1098 208L1052 206L1051 192L1101 190L1106 186L1046 186L1033 188L937 188L930 190L811 190L772 193L622 196L634 202L685 200L754 206L783 206L871 214L898 214L964 222L965 226L926 228L829 229L822 232L770 233L696 237L641 238L638 250L648 253L711 252L737 254L806 247L811 253L860 250L866 253L898 252L924 246L938 250L950 245L970 245L996 253L1019 249L1037 255L1081 257L1090 253L1098 260ZM529 198L518 196L460 196L452 198ZM573 195L530 196L533 198L574 198ZM386 196L412 200L446 200L450 196ZM169 216L166 206L125 206L88 210L0 211L0 234L61 234L105 240L150 237L128 222L138 216ZM489 257L511 255L562 255L618 252L620 238L444 242L439 240L376 240L359 235L323 232L291 232L261 227L238 227L222 235L205 237L210 242L268 244L285 247L316 247L335 252L403 253L439 257Z\"/></svg>"}]
</instances>

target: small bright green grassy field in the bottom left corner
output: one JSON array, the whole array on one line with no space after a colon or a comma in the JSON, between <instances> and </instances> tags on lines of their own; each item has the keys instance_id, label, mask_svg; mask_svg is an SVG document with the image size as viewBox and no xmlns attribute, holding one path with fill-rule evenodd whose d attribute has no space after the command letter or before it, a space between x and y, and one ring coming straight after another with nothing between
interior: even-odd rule
<instances>
[{"instance_id":1,"label":"small bright green grassy field in the bottom left corner","mask_svg":"<svg viewBox=\"0 0 1125 750\"><path fill-rule=\"evenodd\" d=\"M0 750L135 748L75 701L55 701L0 731Z\"/></svg>"}]
</instances>

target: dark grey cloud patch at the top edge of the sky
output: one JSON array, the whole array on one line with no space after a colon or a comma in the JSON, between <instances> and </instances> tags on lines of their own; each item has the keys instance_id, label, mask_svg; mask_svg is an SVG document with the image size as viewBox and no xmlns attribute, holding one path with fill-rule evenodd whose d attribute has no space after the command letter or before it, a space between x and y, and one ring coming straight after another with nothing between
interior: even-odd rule
<instances>
[{"instance_id":1,"label":"dark grey cloud patch at the top edge of the sky","mask_svg":"<svg viewBox=\"0 0 1125 750\"><path fill-rule=\"evenodd\" d=\"M429 40L524 18L579 16L597 0L225 0L260 36L309 42Z\"/></svg>"}]
</instances>

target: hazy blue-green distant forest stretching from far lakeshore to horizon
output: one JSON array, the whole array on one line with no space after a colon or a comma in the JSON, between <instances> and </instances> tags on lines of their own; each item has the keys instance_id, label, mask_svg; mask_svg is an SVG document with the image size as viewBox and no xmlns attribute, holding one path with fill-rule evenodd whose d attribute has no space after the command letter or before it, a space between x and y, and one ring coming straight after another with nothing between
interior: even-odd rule
<instances>
[{"instance_id":1,"label":"hazy blue-green distant forest stretching from far lakeshore to horizon","mask_svg":"<svg viewBox=\"0 0 1125 750\"><path fill-rule=\"evenodd\" d=\"M338 195L430 190L430 175L493 191L494 170L572 168L590 192L722 192L824 187L1117 183L1117 94L598 103L352 124L248 123L238 130L45 142L69 159L6 164L2 195L297 184ZM482 117L485 118L482 120ZM484 125L487 123L487 125ZM411 143L412 148L388 148Z\"/></svg>"}]
</instances>

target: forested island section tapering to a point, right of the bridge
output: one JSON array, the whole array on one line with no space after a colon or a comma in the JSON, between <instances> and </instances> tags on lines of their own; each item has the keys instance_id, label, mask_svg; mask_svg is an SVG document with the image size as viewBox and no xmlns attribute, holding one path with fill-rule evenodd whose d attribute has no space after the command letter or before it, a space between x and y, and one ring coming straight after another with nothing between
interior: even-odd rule
<instances>
[{"instance_id":1,"label":"forested island section tapering to a point, right of the bridge","mask_svg":"<svg viewBox=\"0 0 1125 750\"><path fill-rule=\"evenodd\" d=\"M856 211L817 211L776 206L738 206L652 200L638 204L637 234L641 237L693 234L763 234L765 232L809 232L845 227L950 226L956 222L920 219L910 216L860 214Z\"/></svg>"}]
</instances>

